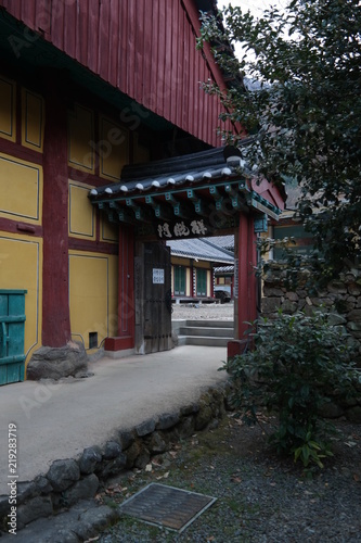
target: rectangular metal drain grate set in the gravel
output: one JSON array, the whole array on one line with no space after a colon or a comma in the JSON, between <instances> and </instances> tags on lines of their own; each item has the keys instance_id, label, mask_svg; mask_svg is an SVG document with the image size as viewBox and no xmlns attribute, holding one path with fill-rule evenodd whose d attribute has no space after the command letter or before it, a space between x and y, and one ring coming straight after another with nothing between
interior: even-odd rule
<instances>
[{"instance_id":1,"label":"rectangular metal drain grate set in the gravel","mask_svg":"<svg viewBox=\"0 0 361 543\"><path fill-rule=\"evenodd\" d=\"M120 513L150 525L181 533L216 500L196 492L152 482L124 502L119 509Z\"/></svg>"}]
</instances>

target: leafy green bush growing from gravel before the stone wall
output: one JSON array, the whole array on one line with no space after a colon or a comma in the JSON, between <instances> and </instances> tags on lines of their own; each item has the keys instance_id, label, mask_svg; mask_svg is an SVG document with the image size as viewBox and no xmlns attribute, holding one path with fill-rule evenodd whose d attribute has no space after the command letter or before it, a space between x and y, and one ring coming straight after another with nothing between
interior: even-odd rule
<instances>
[{"instance_id":1,"label":"leafy green bush growing from gravel before the stone wall","mask_svg":"<svg viewBox=\"0 0 361 543\"><path fill-rule=\"evenodd\" d=\"M306 316L280 311L274 320L261 318L249 331L254 349L221 368L234 384L233 407L250 424L258 421L261 406L275 413L271 443L305 468L323 467L322 458L332 455L334 427L323 419L321 408L336 396L352 395L356 381L361 382L348 334L328 317L322 312Z\"/></svg>"}]
</instances>

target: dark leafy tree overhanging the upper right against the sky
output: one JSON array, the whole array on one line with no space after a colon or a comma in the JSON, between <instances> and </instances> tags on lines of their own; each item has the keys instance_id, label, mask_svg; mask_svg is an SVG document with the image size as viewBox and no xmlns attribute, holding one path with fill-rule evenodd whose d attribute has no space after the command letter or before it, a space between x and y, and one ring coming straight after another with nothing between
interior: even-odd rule
<instances>
[{"instance_id":1,"label":"dark leafy tree overhanging the upper right against the sky","mask_svg":"<svg viewBox=\"0 0 361 543\"><path fill-rule=\"evenodd\" d=\"M197 41L222 45L217 62L238 81L223 97L223 119L254 130L247 160L259 173L300 185L298 215L314 239L311 256L318 263L322 251L324 260L309 281L323 285L360 250L353 232L361 224L361 4L293 0L257 18L235 7L225 16L222 30L203 14ZM252 90L240 80L229 43L243 46L242 72Z\"/></svg>"}]
</instances>

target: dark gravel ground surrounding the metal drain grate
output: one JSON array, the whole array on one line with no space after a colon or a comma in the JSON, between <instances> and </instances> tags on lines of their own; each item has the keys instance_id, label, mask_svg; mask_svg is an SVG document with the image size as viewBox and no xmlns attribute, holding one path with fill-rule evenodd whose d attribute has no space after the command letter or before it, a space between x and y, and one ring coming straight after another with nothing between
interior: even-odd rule
<instances>
[{"instance_id":1,"label":"dark gravel ground surrounding the metal drain grate","mask_svg":"<svg viewBox=\"0 0 361 543\"><path fill-rule=\"evenodd\" d=\"M183 533L124 517L101 543L361 542L361 427L339 422L335 457L312 480L274 457L259 428L227 417L152 465L131 472L102 496L116 503L162 482L217 497Z\"/></svg>"}]
</instances>

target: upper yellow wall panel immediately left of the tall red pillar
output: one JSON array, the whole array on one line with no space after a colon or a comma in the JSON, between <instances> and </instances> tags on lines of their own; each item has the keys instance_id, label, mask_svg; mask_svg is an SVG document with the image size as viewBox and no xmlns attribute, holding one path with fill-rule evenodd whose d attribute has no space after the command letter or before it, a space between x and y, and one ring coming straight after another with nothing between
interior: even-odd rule
<instances>
[{"instance_id":1,"label":"upper yellow wall panel immediately left of the tall red pillar","mask_svg":"<svg viewBox=\"0 0 361 543\"><path fill-rule=\"evenodd\" d=\"M22 144L42 152L44 103L41 96L22 89Z\"/></svg>"}]
</instances>

